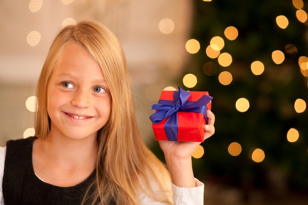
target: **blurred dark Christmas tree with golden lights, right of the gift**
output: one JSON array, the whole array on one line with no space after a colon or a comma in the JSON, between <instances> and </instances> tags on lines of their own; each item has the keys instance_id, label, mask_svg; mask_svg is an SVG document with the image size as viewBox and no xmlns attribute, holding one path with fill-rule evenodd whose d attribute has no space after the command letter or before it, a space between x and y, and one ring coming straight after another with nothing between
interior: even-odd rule
<instances>
[{"instance_id":1,"label":"blurred dark Christmas tree with golden lights, right of the gift","mask_svg":"<svg viewBox=\"0 0 308 205\"><path fill-rule=\"evenodd\" d=\"M183 76L198 79L189 90L210 91L216 115L216 134L202 144L205 155L194 161L195 175L243 190L275 188L276 177L286 189L307 190L308 5L302 0L193 2L191 38L200 50ZM238 32L231 40L230 26ZM209 47L215 36L223 40L219 49ZM242 112L236 108L240 98L247 100ZM290 129L295 140L287 139ZM240 145L237 156L228 151L233 142ZM265 154L260 162L252 157L256 148Z\"/></svg>"}]
</instances>

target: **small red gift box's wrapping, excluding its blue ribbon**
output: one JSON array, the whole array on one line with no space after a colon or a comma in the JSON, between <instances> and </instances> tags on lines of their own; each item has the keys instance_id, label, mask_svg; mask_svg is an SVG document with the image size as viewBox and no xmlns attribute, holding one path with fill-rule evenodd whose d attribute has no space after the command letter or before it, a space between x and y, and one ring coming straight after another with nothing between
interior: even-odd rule
<instances>
[{"instance_id":1,"label":"small red gift box's wrapping, excluding its blue ribbon","mask_svg":"<svg viewBox=\"0 0 308 205\"><path fill-rule=\"evenodd\" d=\"M191 104L192 102L198 101L200 98L202 98L204 95L209 96L209 92L207 91L185 91L183 89L180 89L180 91L188 92L190 93L190 96L186 100L186 104ZM163 90L161 92L159 102L156 105L160 105L161 102L173 102L175 101L174 92L178 91L168 91ZM188 94L189 95L189 94ZM193 112L187 111L187 110L179 110L176 112L177 115L177 136L176 140L173 141L182 141L182 142L203 142L205 129L204 125L207 123L206 120L206 110L212 109L212 97L209 96L208 101L205 104L203 104L203 107L206 107L203 109L202 113L199 112ZM159 112L156 110L156 112ZM151 118L151 117L150 117ZM154 136L156 140L170 140L170 137L167 137L166 134L166 121L169 119L169 117L161 120L158 123L153 123L152 128L154 131ZM152 120L152 119L151 119ZM174 126L174 125L173 125Z\"/></svg>"}]
</instances>

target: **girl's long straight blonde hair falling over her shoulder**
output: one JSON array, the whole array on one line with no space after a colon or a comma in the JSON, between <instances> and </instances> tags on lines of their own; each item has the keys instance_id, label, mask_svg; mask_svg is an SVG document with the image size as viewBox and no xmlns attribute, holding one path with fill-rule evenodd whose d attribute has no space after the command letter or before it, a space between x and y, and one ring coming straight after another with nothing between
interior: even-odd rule
<instances>
[{"instance_id":1,"label":"girl's long straight blonde hair falling over her shoulder","mask_svg":"<svg viewBox=\"0 0 308 205\"><path fill-rule=\"evenodd\" d=\"M56 36L37 84L35 132L46 139L50 132L47 87L53 67L69 43L84 46L100 65L112 97L111 115L99 130L95 180L83 203L138 205L140 192L171 204L171 180L165 166L144 144L136 124L131 84L123 49L105 26L82 21L63 28Z\"/></svg>"}]
</instances>

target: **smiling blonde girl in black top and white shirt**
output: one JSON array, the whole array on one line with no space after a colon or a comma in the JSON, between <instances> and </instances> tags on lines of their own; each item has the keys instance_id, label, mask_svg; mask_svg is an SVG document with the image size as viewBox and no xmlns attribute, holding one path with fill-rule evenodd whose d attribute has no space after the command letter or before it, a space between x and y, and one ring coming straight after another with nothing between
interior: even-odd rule
<instances>
[{"instance_id":1,"label":"smiling blonde girl in black top and white shirt","mask_svg":"<svg viewBox=\"0 0 308 205\"><path fill-rule=\"evenodd\" d=\"M203 205L191 165L200 143L159 142L169 172L147 148L122 47L103 25L59 32L36 96L36 137L0 148L1 205ZM207 115L204 139L215 132Z\"/></svg>"}]
</instances>

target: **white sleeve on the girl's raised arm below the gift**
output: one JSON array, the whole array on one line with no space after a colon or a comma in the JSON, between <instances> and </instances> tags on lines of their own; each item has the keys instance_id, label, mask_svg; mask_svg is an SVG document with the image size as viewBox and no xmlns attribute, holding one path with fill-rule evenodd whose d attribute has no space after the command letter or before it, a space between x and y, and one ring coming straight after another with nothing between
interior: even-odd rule
<instances>
[{"instance_id":1,"label":"white sleeve on the girl's raised arm below the gift","mask_svg":"<svg viewBox=\"0 0 308 205\"><path fill-rule=\"evenodd\" d=\"M172 184L173 205L203 205L204 202L204 183L195 178L196 187L180 188ZM154 201L149 196L140 193L139 200L141 205L167 205Z\"/></svg>"}]
</instances>

